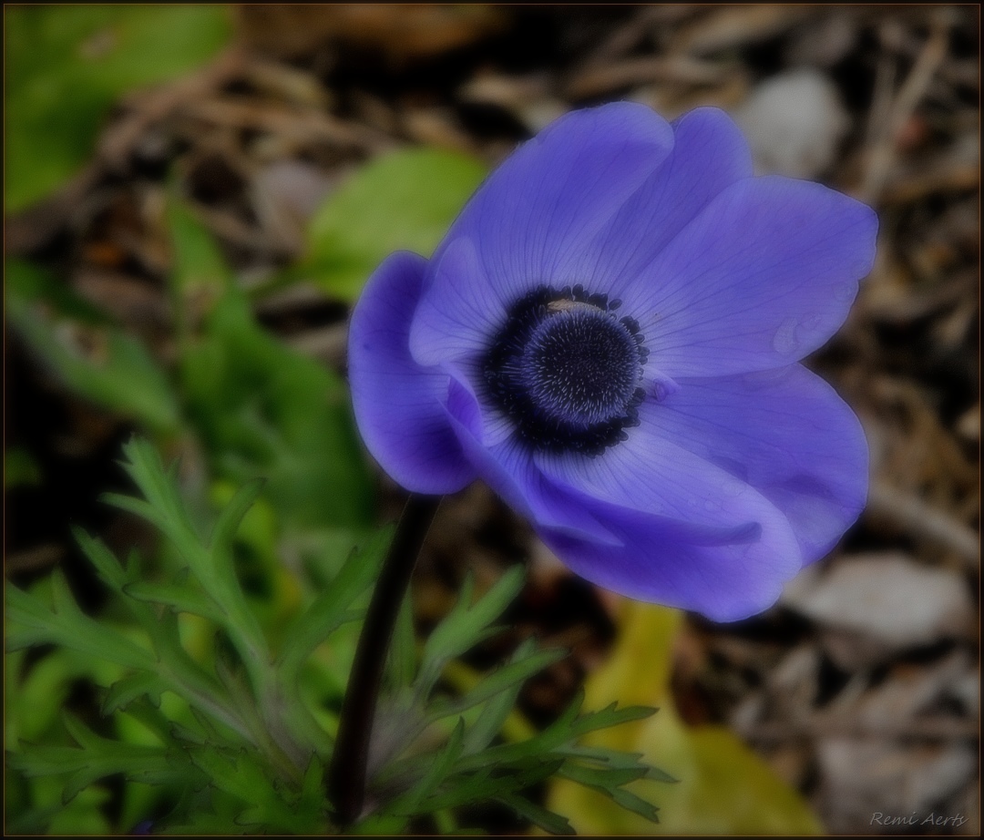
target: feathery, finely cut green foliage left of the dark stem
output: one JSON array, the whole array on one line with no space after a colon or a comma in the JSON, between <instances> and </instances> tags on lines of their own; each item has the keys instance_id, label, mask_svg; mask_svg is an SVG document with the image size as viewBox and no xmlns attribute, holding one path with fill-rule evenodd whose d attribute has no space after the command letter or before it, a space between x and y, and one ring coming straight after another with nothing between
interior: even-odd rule
<instances>
[{"instance_id":1,"label":"feathery, finely cut green foliage left of the dark stem","mask_svg":"<svg viewBox=\"0 0 984 840\"><path fill-rule=\"evenodd\" d=\"M8 587L7 649L55 644L121 666L123 676L104 687L102 712L136 718L155 743L135 746L98 737L66 716L77 746L21 744L10 757L11 766L27 776L64 777L65 803L113 774L166 785L179 799L164 824L172 832L227 832L237 826L323 831L328 805L318 781L331 739L301 700L295 663L341 624L358 617L352 603L372 582L386 539L352 555L336 585L308 606L275 655L231 557L232 538L260 491L259 482L243 487L222 510L211 535L203 538L180 498L173 470L163 469L154 448L134 440L125 454L124 465L143 498L113 495L107 501L153 522L182 568L162 580L141 579L136 558L123 566L98 540L81 531L77 537L99 577L143 633L134 638L83 614L63 576L55 572L50 603ZM179 627L184 616L215 628L211 667L186 649ZM165 705L165 693L180 702ZM232 821L221 814L231 815Z\"/></svg>"}]
</instances>

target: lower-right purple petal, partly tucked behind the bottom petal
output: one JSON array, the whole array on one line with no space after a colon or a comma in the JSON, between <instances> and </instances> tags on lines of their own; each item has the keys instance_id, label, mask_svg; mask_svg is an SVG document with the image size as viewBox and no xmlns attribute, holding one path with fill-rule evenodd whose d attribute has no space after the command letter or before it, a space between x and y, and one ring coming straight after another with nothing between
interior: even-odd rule
<instances>
[{"instance_id":1,"label":"lower-right purple petal, partly tucked behind the bottom petal","mask_svg":"<svg viewBox=\"0 0 984 840\"><path fill-rule=\"evenodd\" d=\"M808 563L830 552L864 509L868 445L861 424L801 365L684 380L644 422L769 499L789 519Z\"/></svg>"}]
</instances>

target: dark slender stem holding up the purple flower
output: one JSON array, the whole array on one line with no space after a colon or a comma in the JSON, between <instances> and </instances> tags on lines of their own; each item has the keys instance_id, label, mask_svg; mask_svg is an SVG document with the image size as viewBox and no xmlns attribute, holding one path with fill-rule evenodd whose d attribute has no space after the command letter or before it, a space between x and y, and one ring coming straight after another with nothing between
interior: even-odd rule
<instances>
[{"instance_id":1,"label":"dark slender stem holding up the purple flower","mask_svg":"<svg viewBox=\"0 0 984 840\"><path fill-rule=\"evenodd\" d=\"M329 796L342 825L351 823L362 811L373 718L390 638L417 555L440 504L440 496L414 495L407 500L369 602L341 704L338 737L328 771Z\"/></svg>"}]
</instances>

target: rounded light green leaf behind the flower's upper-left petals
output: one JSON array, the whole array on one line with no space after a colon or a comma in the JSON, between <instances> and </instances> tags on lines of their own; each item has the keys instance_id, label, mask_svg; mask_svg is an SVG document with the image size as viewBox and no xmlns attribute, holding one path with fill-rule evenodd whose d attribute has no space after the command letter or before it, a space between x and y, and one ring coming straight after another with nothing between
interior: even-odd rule
<instances>
[{"instance_id":1,"label":"rounded light green leaf behind the flower's upper-left petals","mask_svg":"<svg viewBox=\"0 0 984 840\"><path fill-rule=\"evenodd\" d=\"M485 172L471 157L436 149L371 161L315 213L297 272L341 300L355 300L393 251L430 256Z\"/></svg>"}]
</instances>

